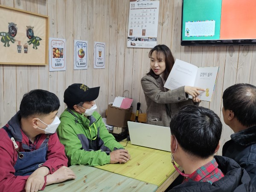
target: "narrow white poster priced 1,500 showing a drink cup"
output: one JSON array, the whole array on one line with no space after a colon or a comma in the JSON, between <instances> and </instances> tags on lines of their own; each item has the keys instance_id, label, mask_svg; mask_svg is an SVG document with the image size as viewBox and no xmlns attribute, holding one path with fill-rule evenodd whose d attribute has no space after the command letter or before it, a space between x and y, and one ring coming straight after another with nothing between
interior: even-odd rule
<instances>
[{"instance_id":1,"label":"narrow white poster priced 1,500 showing a drink cup","mask_svg":"<svg viewBox=\"0 0 256 192\"><path fill-rule=\"evenodd\" d=\"M94 69L105 68L105 43L94 42Z\"/></svg>"}]
</instances>

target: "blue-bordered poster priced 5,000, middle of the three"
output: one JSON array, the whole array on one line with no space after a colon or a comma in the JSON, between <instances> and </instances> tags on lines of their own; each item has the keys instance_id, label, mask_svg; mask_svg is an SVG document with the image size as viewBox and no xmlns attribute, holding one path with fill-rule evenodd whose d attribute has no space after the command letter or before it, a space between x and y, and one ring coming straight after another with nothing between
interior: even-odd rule
<instances>
[{"instance_id":1,"label":"blue-bordered poster priced 5,000, middle of the three","mask_svg":"<svg viewBox=\"0 0 256 192\"><path fill-rule=\"evenodd\" d=\"M74 70L87 69L87 41L74 40Z\"/></svg>"}]
</instances>

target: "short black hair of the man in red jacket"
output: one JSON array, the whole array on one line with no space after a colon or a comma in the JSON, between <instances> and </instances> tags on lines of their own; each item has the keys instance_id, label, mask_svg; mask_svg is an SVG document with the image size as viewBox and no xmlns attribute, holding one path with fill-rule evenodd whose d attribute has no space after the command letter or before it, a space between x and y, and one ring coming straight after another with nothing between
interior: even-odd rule
<instances>
[{"instance_id":1,"label":"short black hair of the man in red jacket","mask_svg":"<svg viewBox=\"0 0 256 192\"><path fill-rule=\"evenodd\" d=\"M35 89L26 93L20 102L20 115L23 118L29 116L44 116L60 107L58 97L47 90Z\"/></svg>"}]
</instances>

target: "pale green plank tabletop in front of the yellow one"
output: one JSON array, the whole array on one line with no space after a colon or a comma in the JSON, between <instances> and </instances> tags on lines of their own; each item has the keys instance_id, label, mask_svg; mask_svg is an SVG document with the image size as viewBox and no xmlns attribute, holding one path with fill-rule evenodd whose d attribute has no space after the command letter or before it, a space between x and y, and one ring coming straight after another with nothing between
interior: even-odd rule
<instances>
[{"instance_id":1,"label":"pale green plank tabletop in front of the yellow one","mask_svg":"<svg viewBox=\"0 0 256 192\"><path fill-rule=\"evenodd\" d=\"M122 165L120 165L122 166ZM94 167L70 166L75 180L46 186L44 192L155 192L157 186Z\"/></svg>"}]
</instances>

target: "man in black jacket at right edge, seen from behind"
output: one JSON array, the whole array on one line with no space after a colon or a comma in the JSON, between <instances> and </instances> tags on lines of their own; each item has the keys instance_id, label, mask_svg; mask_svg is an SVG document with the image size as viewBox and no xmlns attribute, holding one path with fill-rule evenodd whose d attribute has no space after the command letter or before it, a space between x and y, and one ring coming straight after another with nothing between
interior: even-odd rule
<instances>
[{"instance_id":1,"label":"man in black jacket at right edge, seen from behind","mask_svg":"<svg viewBox=\"0 0 256 192\"><path fill-rule=\"evenodd\" d=\"M223 93L223 119L235 132L222 149L222 155L235 160L256 187L256 87L235 84Z\"/></svg>"}]
</instances>

